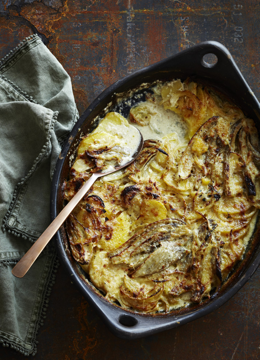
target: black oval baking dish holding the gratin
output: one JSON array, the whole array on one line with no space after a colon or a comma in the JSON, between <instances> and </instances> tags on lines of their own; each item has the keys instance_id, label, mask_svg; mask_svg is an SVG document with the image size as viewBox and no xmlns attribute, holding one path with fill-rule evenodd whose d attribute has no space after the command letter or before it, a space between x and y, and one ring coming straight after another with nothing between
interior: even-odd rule
<instances>
[{"instance_id":1,"label":"black oval baking dish holding the gratin","mask_svg":"<svg viewBox=\"0 0 260 360\"><path fill-rule=\"evenodd\" d=\"M205 62L205 55L214 54L217 62ZM51 219L57 216L63 206L62 184L69 174L71 159L75 155L80 136L92 131L107 111L119 111L127 116L130 106L144 96L145 85L157 80L171 80L187 77L199 78L221 89L237 103L246 116L254 119L259 129L260 104L247 85L229 51L218 42L206 41L184 50L161 62L135 71L111 85L82 114L70 132L57 161L51 191ZM139 90L138 90L139 89ZM136 91L135 91L136 90ZM148 90L149 91L149 90ZM137 96L136 96L137 94ZM125 102L124 99L130 100ZM259 224L259 221L257 221ZM243 260L222 286L220 293L209 300L185 309L164 314L138 314L122 309L106 301L102 294L91 285L86 274L70 254L64 226L55 236L55 243L62 265L71 275L71 280L93 305L110 330L122 338L138 338L174 328L197 319L217 309L229 300L255 272L260 264L259 225L256 226L250 247Z\"/></svg>"}]
</instances>

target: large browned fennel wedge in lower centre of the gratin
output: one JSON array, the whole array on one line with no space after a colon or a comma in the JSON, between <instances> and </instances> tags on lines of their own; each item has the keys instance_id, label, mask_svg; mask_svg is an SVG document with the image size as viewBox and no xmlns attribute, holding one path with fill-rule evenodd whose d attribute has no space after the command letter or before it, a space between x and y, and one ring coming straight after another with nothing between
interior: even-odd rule
<instances>
[{"instance_id":1,"label":"large browned fennel wedge in lower centre of the gratin","mask_svg":"<svg viewBox=\"0 0 260 360\"><path fill-rule=\"evenodd\" d=\"M132 277L150 275L184 256L191 236L183 221L163 219L145 226L109 256L113 264L129 265Z\"/></svg>"}]
</instances>

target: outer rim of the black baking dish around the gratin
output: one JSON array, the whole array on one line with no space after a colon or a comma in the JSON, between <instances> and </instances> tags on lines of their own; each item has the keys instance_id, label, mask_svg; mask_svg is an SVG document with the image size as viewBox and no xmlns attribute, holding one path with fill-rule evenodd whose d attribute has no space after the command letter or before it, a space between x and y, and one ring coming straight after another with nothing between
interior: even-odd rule
<instances>
[{"instance_id":1,"label":"outer rim of the black baking dish around the gratin","mask_svg":"<svg viewBox=\"0 0 260 360\"><path fill-rule=\"evenodd\" d=\"M242 81L242 85L246 88L248 93L250 94L250 106L253 107L255 112L255 116L260 119L260 104L256 97L254 96L252 90L247 85L245 79L243 78L241 72L239 71L235 61L233 60L229 51L219 42L215 41L205 41L199 45L192 46L189 49L183 50L176 55L173 55L167 59L164 59L158 63L152 64L145 68L139 69L130 75L120 79L119 81L115 82L111 86L109 86L105 91L99 95L92 104L84 111L82 116L80 116L79 120L74 125L73 129L71 130L68 139L66 140L64 147L62 148L61 155L56 163L56 167L54 170L54 175L52 179L52 189L51 189L51 220L57 216L57 192L60 188L60 175L62 171L62 166L65 161L65 157L67 156L70 145L80 130L83 122L92 112L92 109L96 108L99 103L102 102L108 95L112 95L116 92L120 87L124 86L134 78L137 78L142 73L151 72L154 69L159 69L158 72L163 71L164 64L167 64L171 60L175 60L178 57L189 56L190 53L200 52L201 55L201 65L205 68L213 68L214 64L205 64L203 60L203 55L213 53L215 55L220 55L221 53L228 59L229 66L233 68L237 77L240 81ZM160 69L162 68L162 69ZM169 70L168 70L169 71ZM176 70L180 71L181 70ZM245 101L245 100L244 100ZM255 111L255 108L257 111ZM255 117L254 117L255 118ZM256 119L255 119L256 120ZM101 318L106 322L108 327L111 329L113 333L117 336L122 338L138 338L142 336L147 336L150 334L154 334L166 329L170 329L173 327L177 327L178 325L185 324L191 320L195 320L208 314L209 312L218 309L221 305L223 305L226 301L228 301L254 274L257 267L260 264L260 252L258 255L252 260L253 255L251 254L251 258L248 260L245 270L244 268L240 269L240 273L242 276L238 279L234 284L231 283L231 287L227 286L224 289L224 292L220 292L220 294L213 298L212 300L207 301L205 304L199 304L195 306L195 309L191 309L187 312L187 308L183 309L183 311L175 311L173 310L170 313L159 313L159 314L139 314L138 312L133 312L127 309L123 309L112 302L108 302L95 290L93 285L86 283L80 276L79 273L75 270L72 266L68 256L66 255L66 250L64 249L64 244L61 236L60 230L55 235L55 246L61 260L62 265L66 268L66 270L71 275L71 280L76 285L81 293L83 293L84 297L87 298L88 302L91 303L96 310L98 311ZM250 264L250 262L252 262ZM79 266L79 265L77 265ZM240 276L240 274L238 274ZM181 314L185 312L184 314ZM176 315L177 313L177 315ZM179 313L179 314L178 314Z\"/></svg>"}]
</instances>

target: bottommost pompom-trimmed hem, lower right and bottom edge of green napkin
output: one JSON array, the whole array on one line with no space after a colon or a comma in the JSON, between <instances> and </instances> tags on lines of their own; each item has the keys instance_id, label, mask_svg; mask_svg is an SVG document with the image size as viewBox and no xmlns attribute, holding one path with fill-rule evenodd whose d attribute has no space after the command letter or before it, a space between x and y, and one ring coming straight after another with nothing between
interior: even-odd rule
<instances>
[{"instance_id":1,"label":"bottommost pompom-trimmed hem, lower right and bottom edge of green napkin","mask_svg":"<svg viewBox=\"0 0 260 360\"><path fill-rule=\"evenodd\" d=\"M16 260L19 261L19 259L16 259ZM48 302L49 302L49 297L51 294L52 287L55 284L57 268L60 265L60 262L59 262L59 259L56 255L56 253L52 256L50 265L51 265L49 267L50 271L48 273L48 276L47 276L47 279L45 282L45 289L43 291L42 303L41 303L40 311L39 311L40 316L38 317L38 321L37 321L34 331L32 333L31 348L28 348L29 346L26 346L26 344L24 345L20 340L18 340L17 338L15 338L13 336L10 336L10 338L13 337L13 340L11 340L10 338L8 339L6 336L4 336L0 332L0 344L2 344L3 347L10 347L11 349L13 349L15 351L20 352L24 356L35 355L37 352L38 341L36 340L36 336L38 334L38 330L43 325L44 319L46 318L46 310L47 310L46 308L48 307ZM18 342L19 342L19 345L18 345Z\"/></svg>"}]
</instances>

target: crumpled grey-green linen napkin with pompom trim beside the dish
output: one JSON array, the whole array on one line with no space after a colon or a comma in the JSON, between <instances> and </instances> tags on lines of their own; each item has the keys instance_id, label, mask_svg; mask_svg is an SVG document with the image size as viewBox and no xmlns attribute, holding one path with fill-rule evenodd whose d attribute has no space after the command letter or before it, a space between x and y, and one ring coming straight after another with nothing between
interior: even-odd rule
<instances>
[{"instance_id":1,"label":"crumpled grey-green linen napkin with pompom trim beside the dish","mask_svg":"<svg viewBox=\"0 0 260 360\"><path fill-rule=\"evenodd\" d=\"M11 274L50 223L51 177L78 119L69 75L37 35L0 64L0 342L36 353L57 267L50 243L24 278Z\"/></svg>"}]
</instances>

